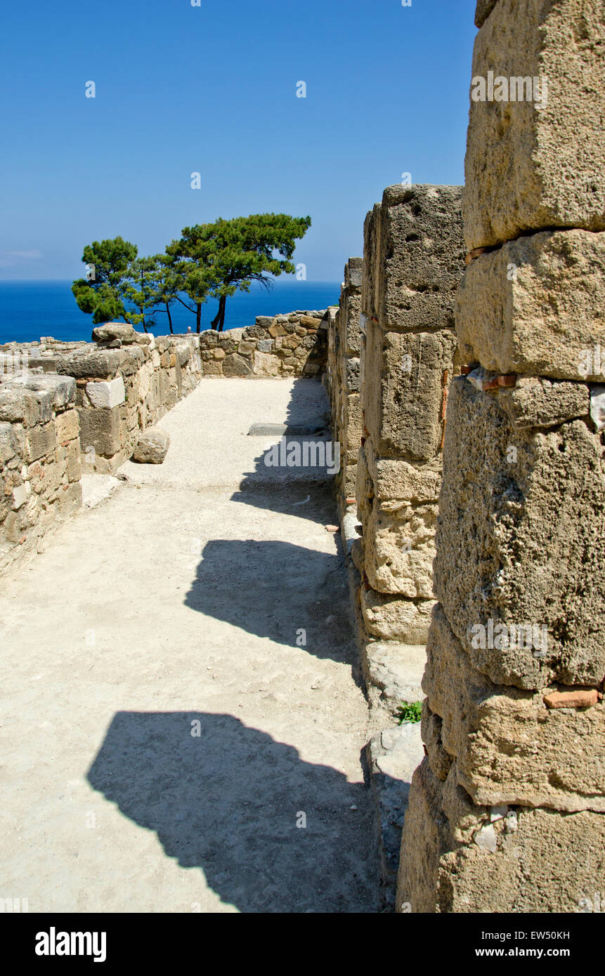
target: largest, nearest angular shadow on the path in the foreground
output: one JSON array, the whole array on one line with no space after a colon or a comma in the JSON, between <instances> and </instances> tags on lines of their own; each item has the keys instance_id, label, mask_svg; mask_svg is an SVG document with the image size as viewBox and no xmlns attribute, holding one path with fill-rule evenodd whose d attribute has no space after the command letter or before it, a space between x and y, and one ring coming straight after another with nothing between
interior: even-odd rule
<instances>
[{"instance_id":1,"label":"largest, nearest angular shadow on the path in the foreground","mask_svg":"<svg viewBox=\"0 0 605 976\"><path fill-rule=\"evenodd\" d=\"M240 912L376 911L365 786L232 715L117 712L88 780Z\"/></svg>"}]
</instances>

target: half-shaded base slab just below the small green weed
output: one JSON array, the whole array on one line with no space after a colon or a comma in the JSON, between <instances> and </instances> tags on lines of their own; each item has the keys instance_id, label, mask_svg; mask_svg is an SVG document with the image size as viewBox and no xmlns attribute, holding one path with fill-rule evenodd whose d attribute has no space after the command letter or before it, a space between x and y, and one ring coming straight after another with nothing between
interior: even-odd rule
<instances>
[{"instance_id":1,"label":"half-shaded base slab just below the small green weed","mask_svg":"<svg viewBox=\"0 0 605 976\"><path fill-rule=\"evenodd\" d=\"M386 904L393 906L411 778L424 756L420 723L407 722L377 732L366 751L376 808L381 880Z\"/></svg>"}]
</instances>

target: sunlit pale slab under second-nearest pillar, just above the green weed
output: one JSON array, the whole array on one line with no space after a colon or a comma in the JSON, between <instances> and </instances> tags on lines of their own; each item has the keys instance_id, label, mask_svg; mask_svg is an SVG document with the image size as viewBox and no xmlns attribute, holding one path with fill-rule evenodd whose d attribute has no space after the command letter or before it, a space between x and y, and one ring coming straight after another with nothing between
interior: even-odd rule
<instances>
[{"instance_id":1,"label":"sunlit pale slab under second-nearest pillar, just above the green weed","mask_svg":"<svg viewBox=\"0 0 605 976\"><path fill-rule=\"evenodd\" d=\"M424 698L421 681L426 664L423 644L370 641L364 651L366 681L381 692L381 702L393 712L402 703L412 705Z\"/></svg>"}]
</instances>

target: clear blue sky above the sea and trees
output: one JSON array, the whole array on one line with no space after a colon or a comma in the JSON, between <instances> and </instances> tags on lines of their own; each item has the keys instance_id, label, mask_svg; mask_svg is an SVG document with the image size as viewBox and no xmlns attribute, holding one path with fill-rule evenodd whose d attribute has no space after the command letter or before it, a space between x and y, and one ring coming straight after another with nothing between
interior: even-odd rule
<instances>
[{"instance_id":1,"label":"clear blue sky above the sea and trees","mask_svg":"<svg viewBox=\"0 0 605 976\"><path fill-rule=\"evenodd\" d=\"M312 218L308 279L339 281L384 186L463 182L474 8L5 5L0 277L74 278L92 240L152 254L187 224L283 211Z\"/></svg>"}]
</instances>

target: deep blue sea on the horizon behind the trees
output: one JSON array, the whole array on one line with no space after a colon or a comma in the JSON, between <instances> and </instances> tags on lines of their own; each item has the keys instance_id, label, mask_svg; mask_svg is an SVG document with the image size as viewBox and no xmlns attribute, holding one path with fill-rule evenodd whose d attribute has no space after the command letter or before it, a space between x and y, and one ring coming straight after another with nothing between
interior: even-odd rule
<instances>
[{"instance_id":1,"label":"deep blue sea on the horizon behind the trees","mask_svg":"<svg viewBox=\"0 0 605 976\"><path fill-rule=\"evenodd\" d=\"M226 329L254 325L256 315L276 315L298 308L318 309L336 305L340 282L277 280L271 291L257 283L249 292L237 292L227 299ZM212 300L201 306L201 328L207 329L216 315L218 302ZM195 331L195 316L180 303L171 305L175 332ZM155 336L166 335L167 316L155 316ZM137 326L142 330L142 326ZM65 342L84 339L90 341L92 316L80 311L71 294L70 281L0 281L0 343L31 342L40 336L53 336Z\"/></svg>"}]
</instances>

